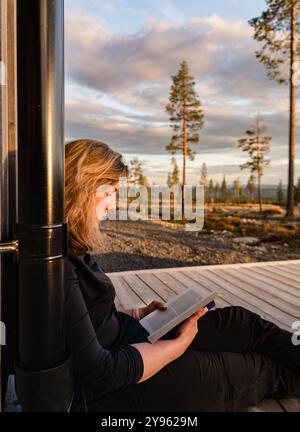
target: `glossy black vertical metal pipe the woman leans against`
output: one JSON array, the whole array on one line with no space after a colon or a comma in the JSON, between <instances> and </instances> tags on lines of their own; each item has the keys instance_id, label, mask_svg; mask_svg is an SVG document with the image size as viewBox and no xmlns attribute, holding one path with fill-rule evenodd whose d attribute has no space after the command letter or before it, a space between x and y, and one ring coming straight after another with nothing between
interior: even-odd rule
<instances>
[{"instance_id":1,"label":"glossy black vertical metal pipe the woman leans against","mask_svg":"<svg viewBox=\"0 0 300 432\"><path fill-rule=\"evenodd\" d=\"M65 410L63 0L17 0L17 87L18 396L25 410Z\"/></svg>"}]
</instances>

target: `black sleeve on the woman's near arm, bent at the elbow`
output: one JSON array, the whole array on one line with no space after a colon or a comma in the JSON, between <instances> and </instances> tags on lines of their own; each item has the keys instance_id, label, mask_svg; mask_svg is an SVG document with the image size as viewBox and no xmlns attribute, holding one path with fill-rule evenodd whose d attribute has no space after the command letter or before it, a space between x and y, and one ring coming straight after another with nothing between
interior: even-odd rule
<instances>
[{"instance_id":1,"label":"black sleeve on the woman's near arm, bent at the elbow","mask_svg":"<svg viewBox=\"0 0 300 432\"><path fill-rule=\"evenodd\" d=\"M65 265L64 281L67 341L73 354L75 375L83 383L94 387L98 395L139 381L144 372L141 353L132 345L113 350L100 345L76 270L69 261Z\"/></svg>"}]
</instances>

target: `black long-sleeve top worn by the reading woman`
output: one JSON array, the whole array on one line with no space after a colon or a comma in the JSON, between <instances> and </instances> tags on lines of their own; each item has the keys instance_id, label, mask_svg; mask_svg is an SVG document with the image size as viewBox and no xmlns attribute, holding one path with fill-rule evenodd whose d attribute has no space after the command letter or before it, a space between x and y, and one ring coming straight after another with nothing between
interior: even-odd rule
<instances>
[{"instance_id":1,"label":"black long-sleeve top worn by the reading woman","mask_svg":"<svg viewBox=\"0 0 300 432\"><path fill-rule=\"evenodd\" d=\"M134 346L104 347L122 336L122 319L115 288L89 253L69 250L64 285L67 343L77 379L100 398L139 381L144 364Z\"/></svg>"}]
</instances>

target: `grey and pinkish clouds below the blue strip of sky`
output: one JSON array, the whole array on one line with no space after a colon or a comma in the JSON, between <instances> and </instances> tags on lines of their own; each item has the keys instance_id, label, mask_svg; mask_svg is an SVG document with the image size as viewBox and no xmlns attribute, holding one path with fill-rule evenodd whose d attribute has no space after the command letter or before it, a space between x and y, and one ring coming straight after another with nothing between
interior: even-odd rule
<instances>
[{"instance_id":1,"label":"grey and pinkish clouds below the blue strip of sky","mask_svg":"<svg viewBox=\"0 0 300 432\"><path fill-rule=\"evenodd\" d=\"M66 18L68 137L102 139L123 153L166 154L171 75L186 59L205 115L199 153L215 152L220 164L222 154L241 154L236 141L259 111L274 138L272 158L287 155L288 88L267 78L247 23L152 17L125 34L98 16L75 11Z\"/></svg>"}]
</instances>

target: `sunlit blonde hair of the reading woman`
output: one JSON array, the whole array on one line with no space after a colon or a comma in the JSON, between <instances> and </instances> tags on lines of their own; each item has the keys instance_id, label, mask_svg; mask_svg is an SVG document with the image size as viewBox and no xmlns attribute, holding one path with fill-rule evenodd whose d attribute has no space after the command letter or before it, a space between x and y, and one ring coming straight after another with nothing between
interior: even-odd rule
<instances>
[{"instance_id":1,"label":"sunlit blonde hair of the reading woman","mask_svg":"<svg viewBox=\"0 0 300 432\"><path fill-rule=\"evenodd\" d=\"M76 254L101 252L97 188L115 185L127 175L122 155L101 141L80 139L65 145L65 218L69 246Z\"/></svg>"}]
</instances>

